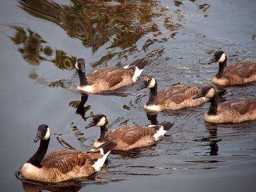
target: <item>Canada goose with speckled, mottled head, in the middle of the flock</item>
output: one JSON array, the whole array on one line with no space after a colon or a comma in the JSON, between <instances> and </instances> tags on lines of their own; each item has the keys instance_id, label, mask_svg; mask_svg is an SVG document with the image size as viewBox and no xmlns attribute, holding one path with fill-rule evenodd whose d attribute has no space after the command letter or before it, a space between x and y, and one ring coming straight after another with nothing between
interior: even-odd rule
<instances>
[{"instance_id":1,"label":"Canada goose with speckled, mottled head, in the middle of the flock","mask_svg":"<svg viewBox=\"0 0 256 192\"><path fill-rule=\"evenodd\" d=\"M143 88L150 88L149 99L144 105L145 109L150 111L164 111L167 109L176 110L180 108L198 106L204 103L205 98L200 100L193 100L192 97L201 91L201 88L177 85L171 86L165 90L157 92L157 81L153 76L146 76L141 84L141 90Z\"/></svg>"}]
</instances>

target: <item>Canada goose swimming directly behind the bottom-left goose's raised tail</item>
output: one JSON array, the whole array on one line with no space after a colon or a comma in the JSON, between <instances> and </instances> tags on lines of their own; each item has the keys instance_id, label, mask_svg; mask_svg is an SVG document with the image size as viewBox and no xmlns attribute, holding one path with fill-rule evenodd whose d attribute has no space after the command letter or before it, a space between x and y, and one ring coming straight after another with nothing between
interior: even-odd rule
<instances>
[{"instance_id":1,"label":"Canada goose swimming directly behind the bottom-left goose's raised tail","mask_svg":"<svg viewBox=\"0 0 256 192\"><path fill-rule=\"evenodd\" d=\"M128 125L108 132L109 125L106 116L98 114L86 125L85 129L93 126L100 127L100 137L93 145L95 148L106 141L113 141L117 143L113 150L129 150L131 148L153 145L163 137L173 124L163 122L149 126Z\"/></svg>"}]
</instances>

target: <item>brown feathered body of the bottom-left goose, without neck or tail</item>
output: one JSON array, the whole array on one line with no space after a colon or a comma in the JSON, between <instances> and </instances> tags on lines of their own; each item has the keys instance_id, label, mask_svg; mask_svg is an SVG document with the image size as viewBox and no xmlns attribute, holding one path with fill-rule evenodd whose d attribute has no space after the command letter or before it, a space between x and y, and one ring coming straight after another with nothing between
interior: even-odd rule
<instances>
[{"instance_id":1,"label":"brown feathered body of the bottom-left goose, without neck or tail","mask_svg":"<svg viewBox=\"0 0 256 192\"><path fill-rule=\"evenodd\" d=\"M79 152L75 150L58 150L47 154L42 160L42 168L26 163L22 168L22 177L44 182L86 177L96 172L93 168L95 159L102 158L99 150Z\"/></svg>"}]
</instances>

